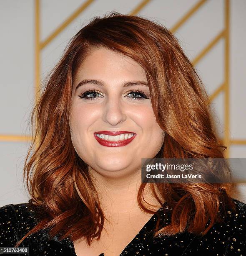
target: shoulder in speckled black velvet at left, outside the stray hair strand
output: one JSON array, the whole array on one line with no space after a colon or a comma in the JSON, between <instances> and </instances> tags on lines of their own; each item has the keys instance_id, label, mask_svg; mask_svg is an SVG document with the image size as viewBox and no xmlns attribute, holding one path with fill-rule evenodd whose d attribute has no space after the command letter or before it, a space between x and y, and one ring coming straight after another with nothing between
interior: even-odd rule
<instances>
[{"instance_id":1,"label":"shoulder in speckled black velvet at left, outside the stray hair strand","mask_svg":"<svg viewBox=\"0 0 246 256\"><path fill-rule=\"evenodd\" d=\"M34 224L35 218L28 203L0 207L0 246L15 246Z\"/></svg>"}]
</instances>

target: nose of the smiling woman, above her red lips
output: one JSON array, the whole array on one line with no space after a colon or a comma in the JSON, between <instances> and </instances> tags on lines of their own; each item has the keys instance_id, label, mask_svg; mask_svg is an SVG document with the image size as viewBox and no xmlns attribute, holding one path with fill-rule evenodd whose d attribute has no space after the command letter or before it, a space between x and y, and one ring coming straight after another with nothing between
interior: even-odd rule
<instances>
[{"instance_id":1,"label":"nose of the smiling woman, above her red lips","mask_svg":"<svg viewBox=\"0 0 246 256\"><path fill-rule=\"evenodd\" d=\"M125 108L123 102L121 102L119 98L108 98L102 108L104 122L115 126L126 120Z\"/></svg>"}]
</instances>

